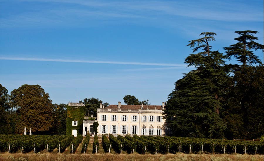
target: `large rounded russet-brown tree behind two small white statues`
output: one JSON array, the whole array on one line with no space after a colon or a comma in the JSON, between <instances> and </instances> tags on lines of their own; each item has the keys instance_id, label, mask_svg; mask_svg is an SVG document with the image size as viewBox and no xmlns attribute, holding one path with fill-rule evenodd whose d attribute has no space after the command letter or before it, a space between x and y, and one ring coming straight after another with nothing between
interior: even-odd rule
<instances>
[{"instance_id":1,"label":"large rounded russet-brown tree behind two small white statues","mask_svg":"<svg viewBox=\"0 0 264 161\"><path fill-rule=\"evenodd\" d=\"M32 132L49 131L53 124L52 100L40 85L22 85L11 92L11 102L17 109L16 133L23 133L24 126Z\"/></svg>"}]
</instances>

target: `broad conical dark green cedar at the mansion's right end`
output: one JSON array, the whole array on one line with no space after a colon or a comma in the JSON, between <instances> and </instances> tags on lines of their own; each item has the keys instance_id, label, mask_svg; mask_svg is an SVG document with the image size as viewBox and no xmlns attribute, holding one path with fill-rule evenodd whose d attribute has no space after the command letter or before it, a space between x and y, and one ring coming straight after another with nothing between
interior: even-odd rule
<instances>
[{"instance_id":1,"label":"broad conical dark green cedar at the mansion's right end","mask_svg":"<svg viewBox=\"0 0 264 161\"><path fill-rule=\"evenodd\" d=\"M224 93L227 87L225 56L211 51L213 32L203 32L204 37L189 41L194 47L185 63L196 69L177 80L175 89L168 96L165 118L175 136L224 138L226 123L220 117L223 109ZM195 47L196 46L196 47Z\"/></svg>"}]
</instances>

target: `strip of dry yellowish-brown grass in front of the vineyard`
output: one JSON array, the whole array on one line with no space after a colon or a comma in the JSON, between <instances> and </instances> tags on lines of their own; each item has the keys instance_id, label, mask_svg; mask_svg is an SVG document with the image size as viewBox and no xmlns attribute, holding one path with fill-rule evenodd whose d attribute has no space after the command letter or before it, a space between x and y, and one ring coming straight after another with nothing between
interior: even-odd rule
<instances>
[{"instance_id":1,"label":"strip of dry yellowish-brown grass in front of the vineyard","mask_svg":"<svg viewBox=\"0 0 264 161\"><path fill-rule=\"evenodd\" d=\"M263 155L209 155L209 154L167 154L167 155L139 155L139 154L0 154L0 161L46 161L46 160L59 160L59 161L263 161Z\"/></svg>"}]
</instances>

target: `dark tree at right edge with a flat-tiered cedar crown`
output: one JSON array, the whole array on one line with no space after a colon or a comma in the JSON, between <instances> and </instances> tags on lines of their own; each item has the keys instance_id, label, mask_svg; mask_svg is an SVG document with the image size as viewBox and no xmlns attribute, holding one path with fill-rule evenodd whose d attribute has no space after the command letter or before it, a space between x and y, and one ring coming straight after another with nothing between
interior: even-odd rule
<instances>
[{"instance_id":1,"label":"dark tree at right edge with a flat-tiered cedar crown","mask_svg":"<svg viewBox=\"0 0 264 161\"><path fill-rule=\"evenodd\" d=\"M263 52L263 45L255 42L257 31L236 31L238 42L224 47L229 59L235 58L241 65L233 65L225 119L228 121L226 137L254 139L263 135L263 64L253 50ZM257 66L253 66L258 64Z\"/></svg>"}]
</instances>

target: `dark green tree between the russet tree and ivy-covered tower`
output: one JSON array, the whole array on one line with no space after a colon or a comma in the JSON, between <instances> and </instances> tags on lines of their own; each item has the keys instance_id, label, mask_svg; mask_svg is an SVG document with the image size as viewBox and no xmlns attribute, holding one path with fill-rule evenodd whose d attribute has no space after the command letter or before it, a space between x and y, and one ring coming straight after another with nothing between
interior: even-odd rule
<instances>
[{"instance_id":1,"label":"dark green tree between the russet tree and ivy-covered tower","mask_svg":"<svg viewBox=\"0 0 264 161\"><path fill-rule=\"evenodd\" d=\"M66 104L53 104L53 126L51 133L53 134L66 134L66 117L67 105Z\"/></svg>"}]
</instances>

